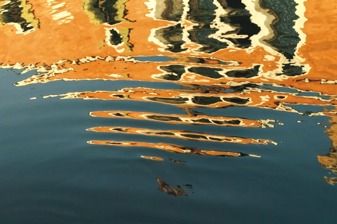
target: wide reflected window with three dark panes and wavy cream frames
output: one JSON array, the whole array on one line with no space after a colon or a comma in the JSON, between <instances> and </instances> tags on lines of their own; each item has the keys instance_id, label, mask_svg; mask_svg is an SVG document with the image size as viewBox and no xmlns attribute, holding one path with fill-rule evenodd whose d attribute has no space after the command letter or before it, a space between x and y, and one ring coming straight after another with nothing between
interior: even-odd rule
<instances>
[{"instance_id":1,"label":"wide reflected window with three dark panes and wavy cream frames","mask_svg":"<svg viewBox=\"0 0 337 224\"><path fill-rule=\"evenodd\" d=\"M176 10L184 3L182 11ZM218 0L157 1L155 19L175 22L174 25L156 29L153 36L171 52L213 53L227 47L248 48L250 37L259 32L251 23L248 10L240 2ZM173 17L174 15L174 17Z\"/></svg>"}]
</instances>

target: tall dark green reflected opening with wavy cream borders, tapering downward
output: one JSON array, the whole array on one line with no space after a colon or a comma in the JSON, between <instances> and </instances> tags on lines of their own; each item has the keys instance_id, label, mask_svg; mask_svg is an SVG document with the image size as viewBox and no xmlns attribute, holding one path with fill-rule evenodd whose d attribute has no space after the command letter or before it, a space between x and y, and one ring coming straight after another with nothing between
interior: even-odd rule
<instances>
[{"instance_id":1,"label":"tall dark green reflected opening with wavy cream borders, tapering downward","mask_svg":"<svg viewBox=\"0 0 337 224\"><path fill-rule=\"evenodd\" d=\"M301 64L304 59L298 55L298 48L304 44L305 34L301 31L305 21L304 0L261 0L260 2L247 2L248 8L257 11L253 19L263 28L263 33L257 35L258 41L263 43L265 49L273 55L280 56L281 67L276 75L298 76L308 68ZM263 15L264 14L264 15ZM261 19L265 17L265 21ZM263 21L263 23L262 23ZM256 42L256 41L255 41ZM273 51L276 53L273 53ZM280 54L279 54L280 53Z\"/></svg>"}]
</instances>

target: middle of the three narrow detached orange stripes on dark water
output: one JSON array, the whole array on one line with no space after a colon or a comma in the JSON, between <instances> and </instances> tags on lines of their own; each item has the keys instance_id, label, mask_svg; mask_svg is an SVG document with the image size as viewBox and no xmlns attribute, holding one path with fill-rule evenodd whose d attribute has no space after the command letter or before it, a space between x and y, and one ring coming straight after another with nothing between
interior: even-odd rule
<instances>
[{"instance_id":1,"label":"middle of the three narrow detached orange stripes on dark water","mask_svg":"<svg viewBox=\"0 0 337 224\"><path fill-rule=\"evenodd\" d=\"M86 130L96 131L96 132L115 132L115 133L140 134L140 135L149 135L149 136L172 137L172 138L180 138L184 140L195 140L195 141L228 142L228 143L241 143L241 144L272 143L274 145L277 145L277 143L272 140L240 138L240 137L223 136L223 135L212 135L212 134L205 134L205 133L198 133L198 132L190 132L186 130L152 130L152 129L145 129L145 128L130 128L130 127L94 127L94 128L88 128Z\"/></svg>"}]
</instances>

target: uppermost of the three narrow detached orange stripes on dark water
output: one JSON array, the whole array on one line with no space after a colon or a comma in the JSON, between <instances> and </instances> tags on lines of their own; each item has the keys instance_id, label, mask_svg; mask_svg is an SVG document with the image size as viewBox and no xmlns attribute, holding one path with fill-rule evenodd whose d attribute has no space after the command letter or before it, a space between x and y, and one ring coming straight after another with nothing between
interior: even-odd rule
<instances>
[{"instance_id":1,"label":"uppermost of the three narrow detached orange stripes on dark water","mask_svg":"<svg viewBox=\"0 0 337 224\"><path fill-rule=\"evenodd\" d=\"M217 126L232 126L232 127L261 127L266 128L274 127L269 122L275 122L275 120L249 120L244 118L232 118L222 116L211 116L197 114L194 116L188 115L165 115L135 111L94 111L89 113L93 117L106 117L106 118L130 118L139 120L149 120L165 122L170 124L199 124L199 125L217 125Z\"/></svg>"}]
</instances>

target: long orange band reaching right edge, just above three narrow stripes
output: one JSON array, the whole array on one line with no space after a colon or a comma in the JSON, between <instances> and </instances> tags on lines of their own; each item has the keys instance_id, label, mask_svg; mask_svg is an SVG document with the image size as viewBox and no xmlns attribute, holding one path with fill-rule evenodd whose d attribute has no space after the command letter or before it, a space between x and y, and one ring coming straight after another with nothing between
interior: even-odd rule
<instances>
[{"instance_id":1,"label":"long orange band reaching right edge, just above three narrow stripes","mask_svg":"<svg viewBox=\"0 0 337 224\"><path fill-rule=\"evenodd\" d=\"M336 99L297 96L297 93L285 93L272 90L249 88L241 93L186 93L183 90L161 90L150 88L124 88L118 91L69 92L49 95L63 96L61 99L104 99L104 100L138 100L151 101L184 107L221 108L228 106L249 106L269 108L303 114L284 104L337 105Z\"/></svg>"}]
</instances>

